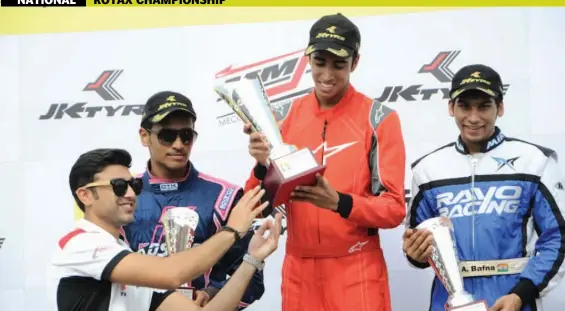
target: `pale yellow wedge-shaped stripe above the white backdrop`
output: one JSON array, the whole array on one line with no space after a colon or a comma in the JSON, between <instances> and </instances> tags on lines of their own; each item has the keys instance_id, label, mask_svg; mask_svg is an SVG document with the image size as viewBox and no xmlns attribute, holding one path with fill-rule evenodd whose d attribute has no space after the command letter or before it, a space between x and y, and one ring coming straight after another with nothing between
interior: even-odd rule
<instances>
[{"instance_id":1,"label":"pale yellow wedge-shaped stripe above the white backdrop","mask_svg":"<svg viewBox=\"0 0 565 311\"><path fill-rule=\"evenodd\" d=\"M1 0L0 0L1 1ZM111 1L111 0L110 0ZM133 0L135 2L136 0ZM233 0L237 1L237 0ZM343 1L340 1L343 5ZM266 2L265 2L266 3ZM163 7L0 8L0 35L126 30L314 19L341 12L370 16L449 10L449 7Z\"/></svg>"}]
</instances>

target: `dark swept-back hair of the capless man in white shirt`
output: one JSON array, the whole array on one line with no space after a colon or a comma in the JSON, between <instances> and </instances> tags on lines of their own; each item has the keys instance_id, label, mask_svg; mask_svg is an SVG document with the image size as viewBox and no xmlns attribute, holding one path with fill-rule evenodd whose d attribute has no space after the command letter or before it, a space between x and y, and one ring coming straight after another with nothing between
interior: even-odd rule
<instances>
[{"instance_id":1,"label":"dark swept-back hair of the capless man in white shirt","mask_svg":"<svg viewBox=\"0 0 565 311\"><path fill-rule=\"evenodd\" d=\"M107 166L123 165L131 167L131 155L123 149L94 149L81 154L71 168L69 186L78 207L84 212L84 204L79 200L76 190L94 181L94 175Z\"/></svg>"}]
</instances>

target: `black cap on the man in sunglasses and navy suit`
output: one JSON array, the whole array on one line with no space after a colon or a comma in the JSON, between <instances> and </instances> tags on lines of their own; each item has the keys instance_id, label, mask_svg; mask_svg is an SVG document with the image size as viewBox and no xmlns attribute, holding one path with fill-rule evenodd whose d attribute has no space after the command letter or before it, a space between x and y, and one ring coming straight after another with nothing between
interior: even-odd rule
<instances>
[{"instance_id":1,"label":"black cap on the man in sunglasses and navy suit","mask_svg":"<svg viewBox=\"0 0 565 311\"><path fill-rule=\"evenodd\" d=\"M196 120L196 112L194 112L192 102L188 97L177 92L159 92L151 96L143 107L141 124L147 122L150 124L159 123L175 111L187 112Z\"/></svg>"}]
</instances>

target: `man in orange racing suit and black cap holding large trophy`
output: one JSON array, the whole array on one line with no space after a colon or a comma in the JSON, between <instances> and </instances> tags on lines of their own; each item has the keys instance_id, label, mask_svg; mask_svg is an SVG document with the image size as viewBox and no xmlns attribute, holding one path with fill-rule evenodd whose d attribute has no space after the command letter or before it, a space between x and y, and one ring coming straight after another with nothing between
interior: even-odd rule
<instances>
[{"instance_id":1,"label":"man in orange racing suit and black cap holding large trophy","mask_svg":"<svg viewBox=\"0 0 565 311\"><path fill-rule=\"evenodd\" d=\"M360 41L341 14L312 26L305 55L314 92L295 100L281 122L285 143L310 148L327 166L316 185L298 187L286 204L283 311L391 310L378 229L397 227L406 215L406 154L398 114L349 83ZM249 129L257 165L246 190L264 178L269 154Z\"/></svg>"}]
</instances>

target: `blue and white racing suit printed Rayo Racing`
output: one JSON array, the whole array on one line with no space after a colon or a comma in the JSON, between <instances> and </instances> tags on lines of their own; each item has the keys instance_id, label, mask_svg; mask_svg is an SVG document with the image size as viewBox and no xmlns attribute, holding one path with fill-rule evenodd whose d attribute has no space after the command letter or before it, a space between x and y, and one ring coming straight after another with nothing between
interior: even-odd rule
<instances>
[{"instance_id":1,"label":"blue and white racing suit printed Rayo Racing","mask_svg":"<svg viewBox=\"0 0 565 311\"><path fill-rule=\"evenodd\" d=\"M541 310L539 298L565 272L565 190L556 153L497 128L481 153L470 155L459 138L414 162L412 173L406 224L451 219L465 290L489 307L515 293L521 310ZM447 298L434 278L430 310L445 310Z\"/></svg>"}]
</instances>

